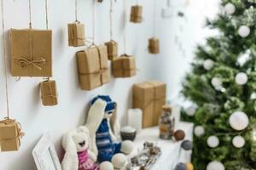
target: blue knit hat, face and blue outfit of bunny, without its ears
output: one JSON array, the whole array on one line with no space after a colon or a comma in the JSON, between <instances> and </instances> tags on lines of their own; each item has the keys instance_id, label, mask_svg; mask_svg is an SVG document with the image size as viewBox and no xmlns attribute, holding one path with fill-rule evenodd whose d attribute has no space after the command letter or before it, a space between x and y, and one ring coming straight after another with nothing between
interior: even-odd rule
<instances>
[{"instance_id":1,"label":"blue knit hat, face and blue outfit of bunny, without its ears","mask_svg":"<svg viewBox=\"0 0 256 170\"><path fill-rule=\"evenodd\" d=\"M92 99L91 105L93 105L97 99L102 99L107 102L105 108L105 115L96 130L96 146L98 149L98 161L111 161L112 157L121 152L121 143L113 143L111 134L109 133L109 122L108 118L113 116L116 110L116 103L108 95L99 95Z\"/></svg>"}]
</instances>

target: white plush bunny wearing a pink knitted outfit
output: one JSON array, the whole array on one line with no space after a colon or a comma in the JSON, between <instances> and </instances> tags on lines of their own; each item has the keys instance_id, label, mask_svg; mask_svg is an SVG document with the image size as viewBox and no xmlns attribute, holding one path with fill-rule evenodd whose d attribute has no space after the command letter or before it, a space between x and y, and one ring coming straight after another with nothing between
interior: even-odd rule
<instances>
[{"instance_id":1,"label":"white plush bunny wearing a pink knitted outfit","mask_svg":"<svg viewBox=\"0 0 256 170\"><path fill-rule=\"evenodd\" d=\"M62 139L66 151L61 162L63 170L98 170L96 155L89 150L90 133L87 127L81 126L67 132Z\"/></svg>"}]
</instances>

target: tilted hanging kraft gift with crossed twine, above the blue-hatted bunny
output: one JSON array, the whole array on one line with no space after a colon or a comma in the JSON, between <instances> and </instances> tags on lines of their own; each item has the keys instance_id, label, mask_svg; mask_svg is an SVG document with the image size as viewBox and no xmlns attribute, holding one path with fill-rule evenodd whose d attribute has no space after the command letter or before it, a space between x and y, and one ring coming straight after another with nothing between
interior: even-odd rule
<instances>
[{"instance_id":1,"label":"tilted hanging kraft gift with crossed twine, above the blue-hatted bunny","mask_svg":"<svg viewBox=\"0 0 256 170\"><path fill-rule=\"evenodd\" d=\"M92 90L109 82L108 50L105 45L77 52L77 64L83 90Z\"/></svg>"}]
</instances>

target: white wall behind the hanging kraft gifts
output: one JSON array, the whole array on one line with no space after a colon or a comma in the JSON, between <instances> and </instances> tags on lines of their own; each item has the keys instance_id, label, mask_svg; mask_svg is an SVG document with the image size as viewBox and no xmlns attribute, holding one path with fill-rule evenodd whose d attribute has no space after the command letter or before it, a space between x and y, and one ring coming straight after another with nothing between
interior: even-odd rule
<instances>
[{"instance_id":1,"label":"white wall behind the hanging kraft gifts","mask_svg":"<svg viewBox=\"0 0 256 170\"><path fill-rule=\"evenodd\" d=\"M193 56L195 42L204 37L201 33L201 19L204 14L204 0L190 0L188 22L174 18L162 20L160 9L166 6L166 0L158 1L157 35L161 40L161 53L149 55L147 53L148 37L152 37L153 0L140 0L143 4L144 22L142 25L133 25L126 22L127 53L137 58L137 77L129 79L113 79L108 85L94 91L84 92L79 89L75 52L80 48L67 47L67 23L74 20L73 0L49 1L49 27L53 30L53 62L54 79L58 85L59 105L44 107L41 105L38 83L40 78L21 78L20 82L9 75L9 97L11 117L17 119L23 127L26 136L21 141L17 152L0 153L1 170L32 170L36 169L32 160L32 148L38 142L42 133L52 133L53 142L58 151L61 150L61 135L68 129L84 123L85 111L90 99L97 94L110 94L119 103L119 119L125 124L125 112L131 107L131 85L134 82L158 78L168 83L169 98L177 98L180 89L180 80L184 71L189 68L189 61ZM212 4L217 0L207 1L207 10L215 11ZM28 26L28 5L26 1L4 0L6 35L9 28L26 28ZM128 17L130 6L135 1L127 1ZM96 4L96 42L103 43L109 40L109 0ZM114 4L114 39L119 42L119 54L123 52L124 21L123 1L117 0ZM79 0L79 20L86 26L86 36L91 37L92 0ZM128 21L128 20L126 20ZM44 28L44 0L32 1L32 22L35 28ZM183 23L183 32L178 31ZM186 48L186 57L183 57L177 45L173 42L178 35ZM2 38L2 37L1 37ZM2 42L1 42L2 47ZM9 46L8 46L9 48ZM3 118L6 113L3 76L3 50L0 50L0 113Z\"/></svg>"}]
</instances>

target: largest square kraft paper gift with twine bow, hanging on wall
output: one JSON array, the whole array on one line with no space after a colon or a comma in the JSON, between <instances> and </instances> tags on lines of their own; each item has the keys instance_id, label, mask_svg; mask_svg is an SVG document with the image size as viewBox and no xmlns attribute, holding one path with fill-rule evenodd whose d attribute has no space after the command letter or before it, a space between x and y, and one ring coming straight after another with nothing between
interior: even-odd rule
<instances>
[{"instance_id":1,"label":"largest square kraft paper gift with twine bow, hanging on wall","mask_svg":"<svg viewBox=\"0 0 256 170\"><path fill-rule=\"evenodd\" d=\"M11 29L10 46L12 76L52 76L52 31Z\"/></svg>"}]
</instances>

